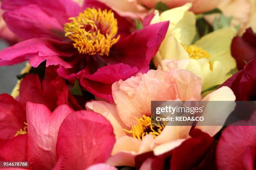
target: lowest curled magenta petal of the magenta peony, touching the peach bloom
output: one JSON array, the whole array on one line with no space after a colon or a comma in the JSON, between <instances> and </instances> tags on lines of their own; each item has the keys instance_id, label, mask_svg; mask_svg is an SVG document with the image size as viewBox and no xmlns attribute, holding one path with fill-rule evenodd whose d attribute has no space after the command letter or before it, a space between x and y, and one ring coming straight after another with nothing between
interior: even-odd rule
<instances>
[{"instance_id":1,"label":"lowest curled magenta petal of the magenta peony, touching the peach bloom","mask_svg":"<svg viewBox=\"0 0 256 170\"><path fill-rule=\"evenodd\" d=\"M82 87L97 97L113 102L111 86L115 81L125 80L138 71L137 67L126 64L107 65L99 68L92 75L84 75L80 83ZM86 73L85 73L86 74Z\"/></svg>"}]
</instances>

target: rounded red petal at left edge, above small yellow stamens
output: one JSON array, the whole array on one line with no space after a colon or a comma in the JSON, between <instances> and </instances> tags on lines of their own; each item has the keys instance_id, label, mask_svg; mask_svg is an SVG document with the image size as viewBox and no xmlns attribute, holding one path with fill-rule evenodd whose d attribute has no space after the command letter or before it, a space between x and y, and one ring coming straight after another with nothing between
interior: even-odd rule
<instances>
[{"instance_id":1,"label":"rounded red petal at left edge, above small yellow stamens","mask_svg":"<svg viewBox=\"0 0 256 170\"><path fill-rule=\"evenodd\" d=\"M23 129L26 122L26 112L12 96L8 94L0 95L0 142L9 140L20 129Z\"/></svg>"}]
</instances>

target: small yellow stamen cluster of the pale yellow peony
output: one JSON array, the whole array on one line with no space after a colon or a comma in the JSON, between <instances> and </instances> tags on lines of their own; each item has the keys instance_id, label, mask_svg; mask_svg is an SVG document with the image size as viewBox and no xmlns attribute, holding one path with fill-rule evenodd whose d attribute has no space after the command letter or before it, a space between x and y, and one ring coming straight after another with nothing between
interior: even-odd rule
<instances>
[{"instance_id":1,"label":"small yellow stamen cluster of the pale yellow peony","mask_svg":"<svg viewBox=\"0 0 256 170\"><path fill-rule=\"evenodd\" d=\"M196 45L189 45L189 47L183 45L183 47L189 54L189 58L200 59L210 57L210 55L205 50L203 50L201 47L197 47Z\"/></svg>"}]
</instances>

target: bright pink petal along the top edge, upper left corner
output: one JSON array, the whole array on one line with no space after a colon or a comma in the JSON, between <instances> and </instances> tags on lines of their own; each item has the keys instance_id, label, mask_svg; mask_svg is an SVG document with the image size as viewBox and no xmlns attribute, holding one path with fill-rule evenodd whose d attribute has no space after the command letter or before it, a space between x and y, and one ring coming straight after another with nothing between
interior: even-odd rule
<instances>
[{"instance_id":1,"label":"bright pink petal along the top edge, upper left corner","mask_svg":"<svg viewBox=\"0 0 256 170\"><path fill-rule=\"evenodd\" d=\"M15 10L19 7L36 5L49 16L56 18L61 25L68 22L68 18L77 16L82 9L72 0L3 0L2 8ZM38 18L35 18L38 20Z\"/></svg>"}]
</instances>

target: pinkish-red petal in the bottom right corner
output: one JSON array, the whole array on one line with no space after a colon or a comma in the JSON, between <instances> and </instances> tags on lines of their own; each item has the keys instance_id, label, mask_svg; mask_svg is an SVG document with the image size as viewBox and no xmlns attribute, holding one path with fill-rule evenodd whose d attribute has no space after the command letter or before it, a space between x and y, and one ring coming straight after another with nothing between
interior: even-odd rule
<instances>
[{"instance_id":1,"label":"pinkish-red petal in the bottom right corner","mask_svg":"<svg viewBox=\"0 0 256 170\"><path fill-rule=\"evenodd\" d=\"M255 125L255 115L256 112L251 117L253 122L250 124ZM256 126L248 126L246 123L243 126L228 126L221 133L216 150L218 170L256 168Z\"/></svg>"}]
</instances>

